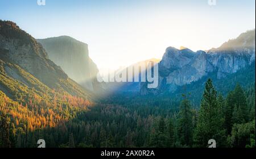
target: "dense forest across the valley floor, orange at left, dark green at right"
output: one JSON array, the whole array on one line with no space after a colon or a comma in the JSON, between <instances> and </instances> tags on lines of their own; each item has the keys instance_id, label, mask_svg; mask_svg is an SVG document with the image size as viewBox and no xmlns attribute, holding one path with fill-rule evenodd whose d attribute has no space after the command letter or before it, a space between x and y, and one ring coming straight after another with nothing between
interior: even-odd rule
<instances>
[{"instance_id":1,"label":"dense forest across the valley floor, orange at left, dark green at right","mask_svg":"<svg viewBox=\"0 0 256 159\"><path fill-rule=\"evenodd\" d=\"M39 139L69 148L208 147L210 139L217 147L255 147L255 83L237 83L224 96L209 79L199 107L189 93L180 102L148 98L113 95L93 104L63 96L48 105L1 94L0 147L37 147Z\"/></svg>"}]
</instances>

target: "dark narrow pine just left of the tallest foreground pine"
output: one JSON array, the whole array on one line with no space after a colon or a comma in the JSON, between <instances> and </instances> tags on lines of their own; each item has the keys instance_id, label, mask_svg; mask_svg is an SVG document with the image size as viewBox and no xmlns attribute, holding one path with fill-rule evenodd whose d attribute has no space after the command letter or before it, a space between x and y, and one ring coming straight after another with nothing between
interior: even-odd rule
<instances>
[{"instance_id":1,"label":"dark narrow pine just left of the tallest foreground pine","mask_svg":"<svg viewBox=\"0 0 256 159\"><path fill-rule=\"evenodd\" d=\"M180 104L179 121L178 121L178 134L179 140L182 145L192 145L192 112L191 104L185 95Z\"/></svg>"}]
</instances>

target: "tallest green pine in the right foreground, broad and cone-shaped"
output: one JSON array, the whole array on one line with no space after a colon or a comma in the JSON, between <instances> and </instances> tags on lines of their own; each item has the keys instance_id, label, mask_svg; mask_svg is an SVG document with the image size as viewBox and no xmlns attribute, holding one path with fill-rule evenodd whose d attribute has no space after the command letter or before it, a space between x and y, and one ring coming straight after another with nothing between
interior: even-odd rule
<instances>
[{"instance_id":1,"label":"tallest green pine in the right foreground, broad and cone-shaped","mask_svg":"<svg viewBox=\"0 0 256 159\"><path fill-rule=\"evenodd\" d=\"M199 118L195 129L195 146L207 147L210 139L216 140L217 146L224 142L224 119L219 114L217 92L212 85L212 80L205 84L205 91L199 110Z\"/></svg>"}]
</instances>

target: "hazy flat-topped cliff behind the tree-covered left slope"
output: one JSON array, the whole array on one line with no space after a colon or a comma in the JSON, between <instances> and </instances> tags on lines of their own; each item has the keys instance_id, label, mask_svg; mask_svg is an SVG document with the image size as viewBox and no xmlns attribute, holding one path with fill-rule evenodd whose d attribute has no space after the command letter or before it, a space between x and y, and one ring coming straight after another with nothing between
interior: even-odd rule
<instances>
[{"instance_id":1,"label":"hazy flat-topped cliff behind the tree-covered left slope","mask_svg":"<svg viewBox=\"0 0 256 159\"><path fill-rule=\"evenodd\" d=\"M88 45L69 36L38 39L48 53L50 60L74 81L91 91L97 90L98 68L89 57Z\"/></svg>"}]
</instances>

